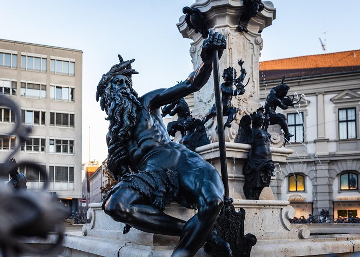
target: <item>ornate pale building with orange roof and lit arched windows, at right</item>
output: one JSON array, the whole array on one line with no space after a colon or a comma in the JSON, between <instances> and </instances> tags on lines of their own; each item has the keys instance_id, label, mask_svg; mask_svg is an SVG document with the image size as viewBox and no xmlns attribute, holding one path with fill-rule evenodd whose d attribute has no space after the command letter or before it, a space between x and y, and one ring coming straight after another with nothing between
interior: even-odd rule
<instances>
[{"instance_id":1,"label":"ornate pale building with orange roof and lit arched windows, at right","mask_svg":"<svg viewBox=\"0 0 360 257\"><path fill-rule=\"evenodd\" d=\"M261 62L262 105L282 75L288 96L304 96L296 109L277 109L295 152L276 168L276 199L289 200L297 217L360 216L360 50Z\"/></svg>"}]
</instances>

